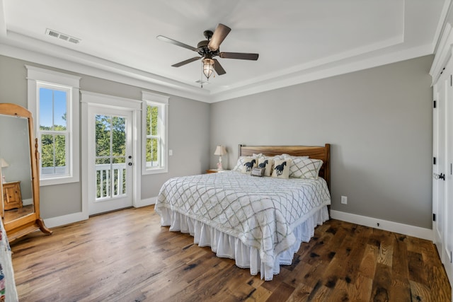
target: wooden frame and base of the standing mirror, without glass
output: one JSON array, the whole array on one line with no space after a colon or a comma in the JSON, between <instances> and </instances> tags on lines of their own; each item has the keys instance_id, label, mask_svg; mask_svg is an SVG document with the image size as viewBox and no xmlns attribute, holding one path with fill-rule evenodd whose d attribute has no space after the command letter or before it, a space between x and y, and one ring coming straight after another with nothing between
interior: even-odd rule
<instances>
[{"instance_id":1,"label":"wooden frame and base of the standing mirror, without glass","mask_svg":"<svg viewBox=\"0 0 453 302\"><path fill-rule=\"evenodd\" d=\"M33 117L31 112L25 108L11 103L0 103L0 115L10 115L13 117L25 117L28 119L28 138L30 145L30 165L31 165L31 183L33 192L33 213L28 214L13 221L3 221L6 235L8 240L11 242L19 237L25 236L26 234L41 230L43 233L48 235L52 234L49 228L44 224L40 216L40 180L38 173L38 139L34 139L33 132ZM1 209L3 219L3 187L0 189L1 194Z\"/></svg>"}]
</instances>

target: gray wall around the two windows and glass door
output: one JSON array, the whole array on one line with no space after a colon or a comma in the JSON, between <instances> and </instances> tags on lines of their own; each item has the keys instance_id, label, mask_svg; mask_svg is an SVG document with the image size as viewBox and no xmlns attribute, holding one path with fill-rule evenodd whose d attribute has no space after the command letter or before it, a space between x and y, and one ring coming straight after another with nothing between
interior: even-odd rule
<instances>
[{"instance_id":1,"label":"gray wall around the two windows and glass door","mask_svg":"<svg viewBox=\"0 0 453 302\"><path fill-rule=\"evenodd\" d=\"M27 108L25 64L53 69L0 56L0 103L16 103ZM84 74L76 75L81 76L80 89L83 91L141 100L145 90ZM161 185L170 177L202 173L209 166L210 104L171 95L168 109L168 147L173 150L173 156L169 157L169 170L168 173L142 177L142 199L156 197ZM40 206L44 219L81 211L81 183L40 187Z\"/></svg>"}]
</instances>

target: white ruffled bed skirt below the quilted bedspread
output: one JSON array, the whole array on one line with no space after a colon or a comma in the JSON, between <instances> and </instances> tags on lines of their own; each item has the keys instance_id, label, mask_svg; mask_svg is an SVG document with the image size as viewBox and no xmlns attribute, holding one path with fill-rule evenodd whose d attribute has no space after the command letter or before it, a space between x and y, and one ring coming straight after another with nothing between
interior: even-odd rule
<instances>
[{"instance_id":1,"label":"white ruffled bed skirt below the quilted bedspread","mask_svg":"<svg viewBox=\"0 0 453 302\"><path fill-rule=\"evenodd\" d=\"M280 265L291 265L294 253L299 250L301 243L309 242L310 238L314 236L314 228L328 220L326 206L314 211L313 215L294 228L296 241L275 257L274 265L271 267L261 262L260 252L256 248L244 245L238 238L222 233L177 211L163 207L161 212L162 226L170 226L170 231L190 233L197 245L210 246L217 257L234 259L238 267L250 268L250 273L253 275L260 272L261 279L265 279L265 281L272 280L274 274L280 273Z\"/></svg>"}]
</instances>

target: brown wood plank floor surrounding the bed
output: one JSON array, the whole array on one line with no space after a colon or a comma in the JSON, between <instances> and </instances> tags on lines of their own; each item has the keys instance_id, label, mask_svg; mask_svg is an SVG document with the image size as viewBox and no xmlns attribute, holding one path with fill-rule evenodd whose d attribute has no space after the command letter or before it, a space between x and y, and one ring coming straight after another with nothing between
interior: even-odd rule
<instances>
[{"instance_id":1,"label":"brown wood plank floor surrounding the bed","mask_svg":"<svg viewBox=\"0 0 453 302\"><path fill-rule=\"evenodd\" d=\"M20 301L452 301L435 246L331 220L273 281L125 209L11 243Z\"/></svg>"}]
</instances>

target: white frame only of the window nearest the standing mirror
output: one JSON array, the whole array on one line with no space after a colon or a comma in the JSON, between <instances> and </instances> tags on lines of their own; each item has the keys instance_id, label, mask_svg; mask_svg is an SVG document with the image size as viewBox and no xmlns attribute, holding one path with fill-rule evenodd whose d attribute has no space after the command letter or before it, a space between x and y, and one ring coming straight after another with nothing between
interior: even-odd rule
<instances>
[{"instance_id":1,"label":"white frame only of the window nearest the standing mirror","mask_svg":"<svg viewBox=\"0 0 453 302\"><path fill-rule=\"evenodd\" d=\"M62 175L42 175L40 169L40 185L59 185L70 182L79 182L80 155L79 155L79 83L80 77L63 74L58 71L42 69L25 65L28 79L28 110L32 112L35 120L35 137L38 138L40 147L40 115L39 115L39 89L55 88L68 91L67 95L67 158L68 173Z\"/></svg>"}]
</instances>

